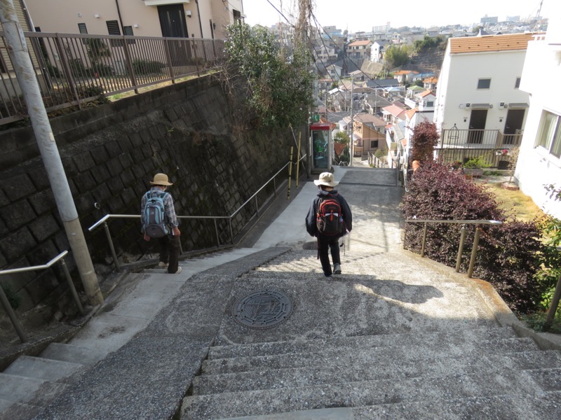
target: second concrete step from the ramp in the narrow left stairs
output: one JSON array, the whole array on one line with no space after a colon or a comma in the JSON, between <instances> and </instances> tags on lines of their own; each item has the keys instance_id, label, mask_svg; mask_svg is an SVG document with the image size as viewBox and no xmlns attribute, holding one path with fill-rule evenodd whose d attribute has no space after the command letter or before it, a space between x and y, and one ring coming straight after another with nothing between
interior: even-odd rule
<instances>
[{"instance_id":1,"label":"second concrete step from the ramp in the narrow left stairs","mask_svg":"<svg viewBox=\"0 0 561 420\"><path fill-rule=\"evenodd\" d=\"M80 370L85 370L85 367L77 363L34 356L20 356L4 370L4 373L20 377L58 381Z\"/></svg>"}]
</instances>

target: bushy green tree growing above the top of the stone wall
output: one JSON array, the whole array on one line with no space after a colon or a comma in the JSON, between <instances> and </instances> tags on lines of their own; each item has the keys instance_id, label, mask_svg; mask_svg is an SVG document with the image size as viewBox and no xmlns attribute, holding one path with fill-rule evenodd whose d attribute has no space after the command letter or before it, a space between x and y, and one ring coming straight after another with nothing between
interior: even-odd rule
<instances>
[{"instance_id":1,"label":"bushy green tree growing above the top of the stone wall","mask_svg":"<svg viewBox=\"0 0 561 420\"><path fill-rule=\"evenodd\" d=\"M307 122L313 104L309 52L303 46L281 48L263 27L227 27L222 81L237 123L266 128L298 127Z\"/></svg>"}]
</instances>

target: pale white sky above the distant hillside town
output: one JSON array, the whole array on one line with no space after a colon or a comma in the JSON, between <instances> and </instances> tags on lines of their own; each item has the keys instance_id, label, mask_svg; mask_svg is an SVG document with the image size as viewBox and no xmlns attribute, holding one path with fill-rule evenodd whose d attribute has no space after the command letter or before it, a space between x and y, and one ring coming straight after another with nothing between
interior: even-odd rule
<instances>
[{"instance_id":1,"label":"pale white sky above the distant hillside town","mask_svg":"<svg viewBox=\"0 0 561 420\"><path fill-rule=\"evenodd\" d=\"M243 0L245 22L270 27L286 22L275 8L291 23L297 16L297 0ZM505 20L507 16L535 17L540 10L544 18L561 15L560 0L312 0L314 15L321 26L336 26L350 32L370 31L373 26L387 25L432 27L479 23L485 15Z\"/></svg>"}]
</instances>

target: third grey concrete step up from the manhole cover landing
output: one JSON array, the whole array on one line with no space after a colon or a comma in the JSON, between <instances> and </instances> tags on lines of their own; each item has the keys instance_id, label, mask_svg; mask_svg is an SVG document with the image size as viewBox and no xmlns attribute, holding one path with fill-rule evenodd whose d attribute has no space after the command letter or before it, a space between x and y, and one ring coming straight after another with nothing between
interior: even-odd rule
<instances>
[{"instance_id":1,"label":"third grey concrete step up from the manhole cover landing","mask_svg":"<svg viewBox=\"0 0 561 420\"><path fill-rule=\"evenodd\" d=\"M470 374L475 371L535 370L561 367L557 351L529 351L507 355L477 355L462 358L423 358L405 362L388 360L386 363L355 363L347 365L326 364L313 367L287 367L266 372L240 372L212 374L195 377L193 395L209 393L252 391L257 389L290 388L317 384L342 384L345 382L400 380L405 377L443 376L450 372ZM541 384L546 388L548 384Z\"/></svg>"}]
</instances>

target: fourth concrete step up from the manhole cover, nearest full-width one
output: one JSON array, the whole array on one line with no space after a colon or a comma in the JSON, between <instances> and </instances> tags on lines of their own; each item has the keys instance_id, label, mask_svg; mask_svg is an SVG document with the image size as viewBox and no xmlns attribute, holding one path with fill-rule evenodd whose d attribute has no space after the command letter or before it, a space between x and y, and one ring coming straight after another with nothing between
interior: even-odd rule
<instances>
[{"instance_id":1,"label":"fourth concrete step up from the manhole cover, nearest full-width one","mask_svg":"<svg viewBox=\"0 0 561 420\"><path fill-rule=\"evenodd\" d=\"M404 378L400 381L382 379L351 384L189 396L183 400L181 419L227 419L235 416L328 407L361 407L388 402L452 400L503 394L532 395L546 391L536 382L536 379L545 380L544 378L561 379L561 369L533 370L532 374L529 374L529 371L501 370L491 373L450 374L444 377ZM547 391L553 386L559 386L555 391L561 391L561 381L553 381L553 385Z\"/></svg>"}]
</instances>

